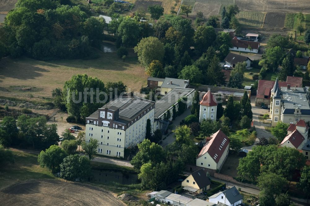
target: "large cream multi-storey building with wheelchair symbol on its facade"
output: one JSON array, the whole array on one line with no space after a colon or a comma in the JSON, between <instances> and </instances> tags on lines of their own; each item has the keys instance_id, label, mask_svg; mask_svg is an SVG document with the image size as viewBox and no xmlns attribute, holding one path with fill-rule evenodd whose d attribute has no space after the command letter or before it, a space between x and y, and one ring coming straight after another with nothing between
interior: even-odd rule
<instances>
[{"instance_id":1,"label":"large cream multi-storey building with wheelchair symbol on its facade","mask_svg":"<svg viewBox=\"0 0 310 206\"><path fill-rule=\"evenodd\" d=\"M85 141L98 139L97 153L124 157L124 148L141 143L146 122L154 122L155 102L139 97L116 97L86 118Z\"/></svg>"}]
</instances>

